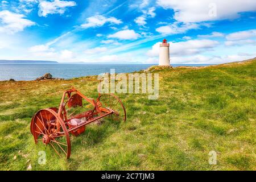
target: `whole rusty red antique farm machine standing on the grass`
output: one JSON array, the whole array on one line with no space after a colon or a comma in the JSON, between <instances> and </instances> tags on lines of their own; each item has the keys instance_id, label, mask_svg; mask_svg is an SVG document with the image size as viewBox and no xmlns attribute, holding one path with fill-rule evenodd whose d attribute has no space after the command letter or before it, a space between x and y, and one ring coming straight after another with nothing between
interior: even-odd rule
<instances>
[{"instance_id":1,"label":"whole rusty red antique farm machine standing on the grass","mask_svg":"<svg viewBox=\"0 0 256 182\"><path fill-rule=\"evenodd\" d=\"M91 109L84 110L88 106ZM86 125L104 117L126 121L125 107L117 96L99 94L95 101L73 88L63 93L59 108L39 110L32 117L30 131L36 144L41 141L68 159L71 155L69 133L75 136L84 133Z\"/></svg>"}]
</instances>

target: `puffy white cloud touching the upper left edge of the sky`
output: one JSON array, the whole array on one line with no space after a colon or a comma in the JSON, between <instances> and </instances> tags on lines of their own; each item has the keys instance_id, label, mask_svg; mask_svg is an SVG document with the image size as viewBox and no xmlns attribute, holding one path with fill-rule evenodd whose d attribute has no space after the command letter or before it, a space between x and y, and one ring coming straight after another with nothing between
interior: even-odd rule
<instances>
[{"instance_id":1,"label":"puffy white cloud touching the upper left edge of the sky","mask_svg":"<svg viewBox=\"0 0 256 182\"><path fill-rule=\"evenodd\" d=\"M25 19L22 14L12 13L4 10L0 11L0 32L14 34L15 32L23 31L24 28L35 24L31 20Z\"/></svg>"}]
</instances>

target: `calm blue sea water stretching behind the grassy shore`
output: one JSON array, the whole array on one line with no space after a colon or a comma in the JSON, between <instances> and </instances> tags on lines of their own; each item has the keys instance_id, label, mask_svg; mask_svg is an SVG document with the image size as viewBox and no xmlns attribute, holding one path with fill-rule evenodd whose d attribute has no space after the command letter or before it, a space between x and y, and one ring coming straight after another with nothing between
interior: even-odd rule
<instances>
[{"instance_id":1,"label":"calm blue sea water stretching behind the grassy shore","mask_svg":"<svg viewBox=\"0 0 256 182\"><path fill-rule=\"evenodd\" d=\"M154 64L0 64L0 81L35 80L44 73L57 78L74 78L99 75L115 69L115 73L130 73L146 69ZM174 64L177 66L205 66L205 64Z\"/></svg>"}]
</instances>

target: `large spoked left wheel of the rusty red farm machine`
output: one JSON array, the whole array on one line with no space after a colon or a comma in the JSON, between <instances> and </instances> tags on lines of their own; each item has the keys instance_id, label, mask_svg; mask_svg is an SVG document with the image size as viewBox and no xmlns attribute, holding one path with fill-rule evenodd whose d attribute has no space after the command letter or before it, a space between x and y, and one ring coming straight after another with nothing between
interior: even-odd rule
<instances>
[{"instance_id":1,"label":"large spoked left wheel of the rusty red farm machine","mask_svg":"<svg viewBox=\"0 0 256 182\"><path fill-rule=\"evenodd\" d=\"M52 147L59 156L69 158L71 142L68 130L56 111L52 109L39 110L32 118L30 127L36 144L43 142Z\"/></svg>"}]
</instances>

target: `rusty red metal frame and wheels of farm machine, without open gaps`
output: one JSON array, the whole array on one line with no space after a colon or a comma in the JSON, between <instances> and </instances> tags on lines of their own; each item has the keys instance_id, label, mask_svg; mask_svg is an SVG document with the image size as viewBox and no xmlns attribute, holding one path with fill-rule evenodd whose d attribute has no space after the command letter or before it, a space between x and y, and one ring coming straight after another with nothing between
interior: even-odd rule
<instances>
[{"instance_id":1,"label":"rusty red metal frame and wheels of farm machine, without open gaps","mask_svg":"<svg viewBox=\"0 0 256 182\"><path fill-rule=\"evenodd\" d=\"M100 100L103 96L109 96L113 100L117 100L116 104L121 105L119 110L113 109L112 106L104 107L102 106L102 101ZM67 100L65 101L65 99ZM108 98L108 97L106 97ZM78 101L77 101L77 100ZM67 111L65 109L65 106L72 105L80 105L82 106L82 99L89 102L94 109L85 111L84 113L80 113L78 115L75 115L71 118L67 117ZM74 102L72 102L74 101ZM113 103L112 103L113 104ZM121 117L121 113L123 113ZM79 92L79 90L72 88L70 90L66 90L63 93L63 96L61 97L59 108L57 107L50 107L47 109L41 109L39 110L31 119L31 125L30 130L32 135L34 136L35 143L38 143L38 139L40 136L42 136L42 142L44 144L50 144L52 148L55 150L55 152L59 154L59 152L56 150L56 147L54 147L54 143L57 144L57 147L59 146L61 150L64 152L64 154L67 156L67 159L71 155L71 142L69 138L69 133L72 133L73 135L77 136L85 131L85 126L89 123L95 122L98 119L114 115L115 117L119 117L118 119L122 119L123 121L126 121L126 110L123 106L122 102L119 100L117 96L114 96L113 94L98 94L97 100L93 100L91 98L86 97L84 94ZM79 123L78 125L71 125L69 121L71 119L77 118L86 118L85 121ZM62 131L61 131L62 130ZM57 138L65 137L65 142L61 143L57 141ZM63 146L67 146L65 149L63 149Z\"/></svg>"}]
</instances>

